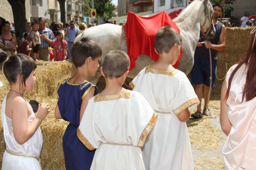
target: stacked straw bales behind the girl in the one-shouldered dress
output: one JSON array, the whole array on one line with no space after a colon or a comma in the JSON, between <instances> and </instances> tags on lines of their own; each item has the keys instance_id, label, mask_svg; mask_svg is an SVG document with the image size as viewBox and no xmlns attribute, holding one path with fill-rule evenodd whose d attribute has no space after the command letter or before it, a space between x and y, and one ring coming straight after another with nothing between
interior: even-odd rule
<instances>
[{"instance_id":1,"label":"stacked straw bales behind the girl in the one-shouldered dress","mask_svg":"<svg viewBox=\"0 0 256 170\"><path fill-rule=\"evenodd\" d=\"M37 62L35 88L26 93L27 100L35 99L38 102L47 102L50 105L50 113L41 123L43 134L43 148L41 151L41 164L44 170L64 170L65 162L62 149L62 136L68 122L57 120L54 117L55 105L58 101L57 90L61 82L71 74L70 62ZM0 74L3 86L0 91L0 108L4 96L9 92L9 82L3 74ZM2 166L5 144L3 139L3 127L0 121L0 167Z\"/></svg>"}]
</instances>

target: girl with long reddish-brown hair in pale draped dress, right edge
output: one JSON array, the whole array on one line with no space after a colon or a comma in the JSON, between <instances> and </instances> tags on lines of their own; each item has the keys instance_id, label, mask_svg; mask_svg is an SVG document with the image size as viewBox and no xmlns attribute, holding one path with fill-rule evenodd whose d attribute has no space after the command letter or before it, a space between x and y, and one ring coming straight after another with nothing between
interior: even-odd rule
<instances>
[{"instance_id":1,"label":"girl with long reddish-brown hair in pale draped dress, right edge","mask_svg":"<svg viewBox=\"0 0 256 170\"><path fill-rule=\"evenodd\" d=\"M256 27L246 57L233 65L221 88L225 170L256 170Z\"/></svg>"}]
</instances>

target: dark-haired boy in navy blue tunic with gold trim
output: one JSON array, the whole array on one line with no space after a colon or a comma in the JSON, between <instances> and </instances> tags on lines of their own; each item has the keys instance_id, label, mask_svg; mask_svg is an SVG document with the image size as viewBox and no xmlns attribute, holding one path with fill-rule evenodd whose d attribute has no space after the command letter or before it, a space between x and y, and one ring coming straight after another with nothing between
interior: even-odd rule
<instances>
[{"instance_id":1,"label":"dark-haired boy in navy blue tunic with gold trim","mask_svg":"<svg viewBox=\"0 0 256 170\"><path fill-rule=\"evenodd\" d=\"M95 151L80 142L76 130L88 100L98 94L97 87L87 80L95 76L102 50L93 40L82 38L73 45L71 54L76 73L58 89L55 118L70 122L62 140L66 170L90 170Z\"/></svg>"}]
</instances>

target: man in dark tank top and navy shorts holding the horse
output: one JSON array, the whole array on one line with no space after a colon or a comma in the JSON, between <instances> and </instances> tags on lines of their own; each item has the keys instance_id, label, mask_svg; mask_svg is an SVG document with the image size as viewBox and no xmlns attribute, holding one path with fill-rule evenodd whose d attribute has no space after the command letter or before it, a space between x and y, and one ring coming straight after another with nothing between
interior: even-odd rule
<instances>
[{"instance_id":1,"label":"man in dark tank top and navy shorts holding the horse","mask_svg":"<svg viewBox=\"0 0 256 170\"><path fill-rule=\"evenodd\" d=\"M215 37L205 43L204 37L200 33L198 46L195 49L194 65L191 71L191 84L195 85L195 93L200 100L200 104L197 107L197 111L192 114L194 118L201 118L203 114L210 115L207 108L208 94L211 93L210 89L210 55L209 48L211 48L212 55L212 87L214 87L217 65L218 51L222 51L225 48L225 26L218 21L218 17L222 15L223 6L221 3L215 3L213 5L213 24L216 29ZM201 110L201 100L203 96L204 85L204 110ZM210 91L210 92L209 92ZM207 112L206 112L207 111ZM207 114L206 114L207 113Z\"/></svg>"}]
</instances>

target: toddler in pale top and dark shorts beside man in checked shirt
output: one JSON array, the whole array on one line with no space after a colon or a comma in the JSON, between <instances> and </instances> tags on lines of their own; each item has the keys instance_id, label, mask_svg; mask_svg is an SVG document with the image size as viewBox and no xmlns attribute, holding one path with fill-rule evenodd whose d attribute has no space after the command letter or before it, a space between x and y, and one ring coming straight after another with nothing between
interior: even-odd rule
<instances>
[{"instance_id":1,"label":"toddler in pale top and dark shorts beside man in checked shirt","mask_svg":"<svg viewBox=\"0 0 256 170\"><path fill-rule=\"evenodd\" d=\"M39 29L39 23L37 21L33 21L31 23L32 30L30 32L29 37L32 38L32 45L33 45L33 53L34 53L34 59L35 61L38 61L39 59L39 46L41 44L40 40L40 34L38 32Z\"/></svg>"}]
</instances>

